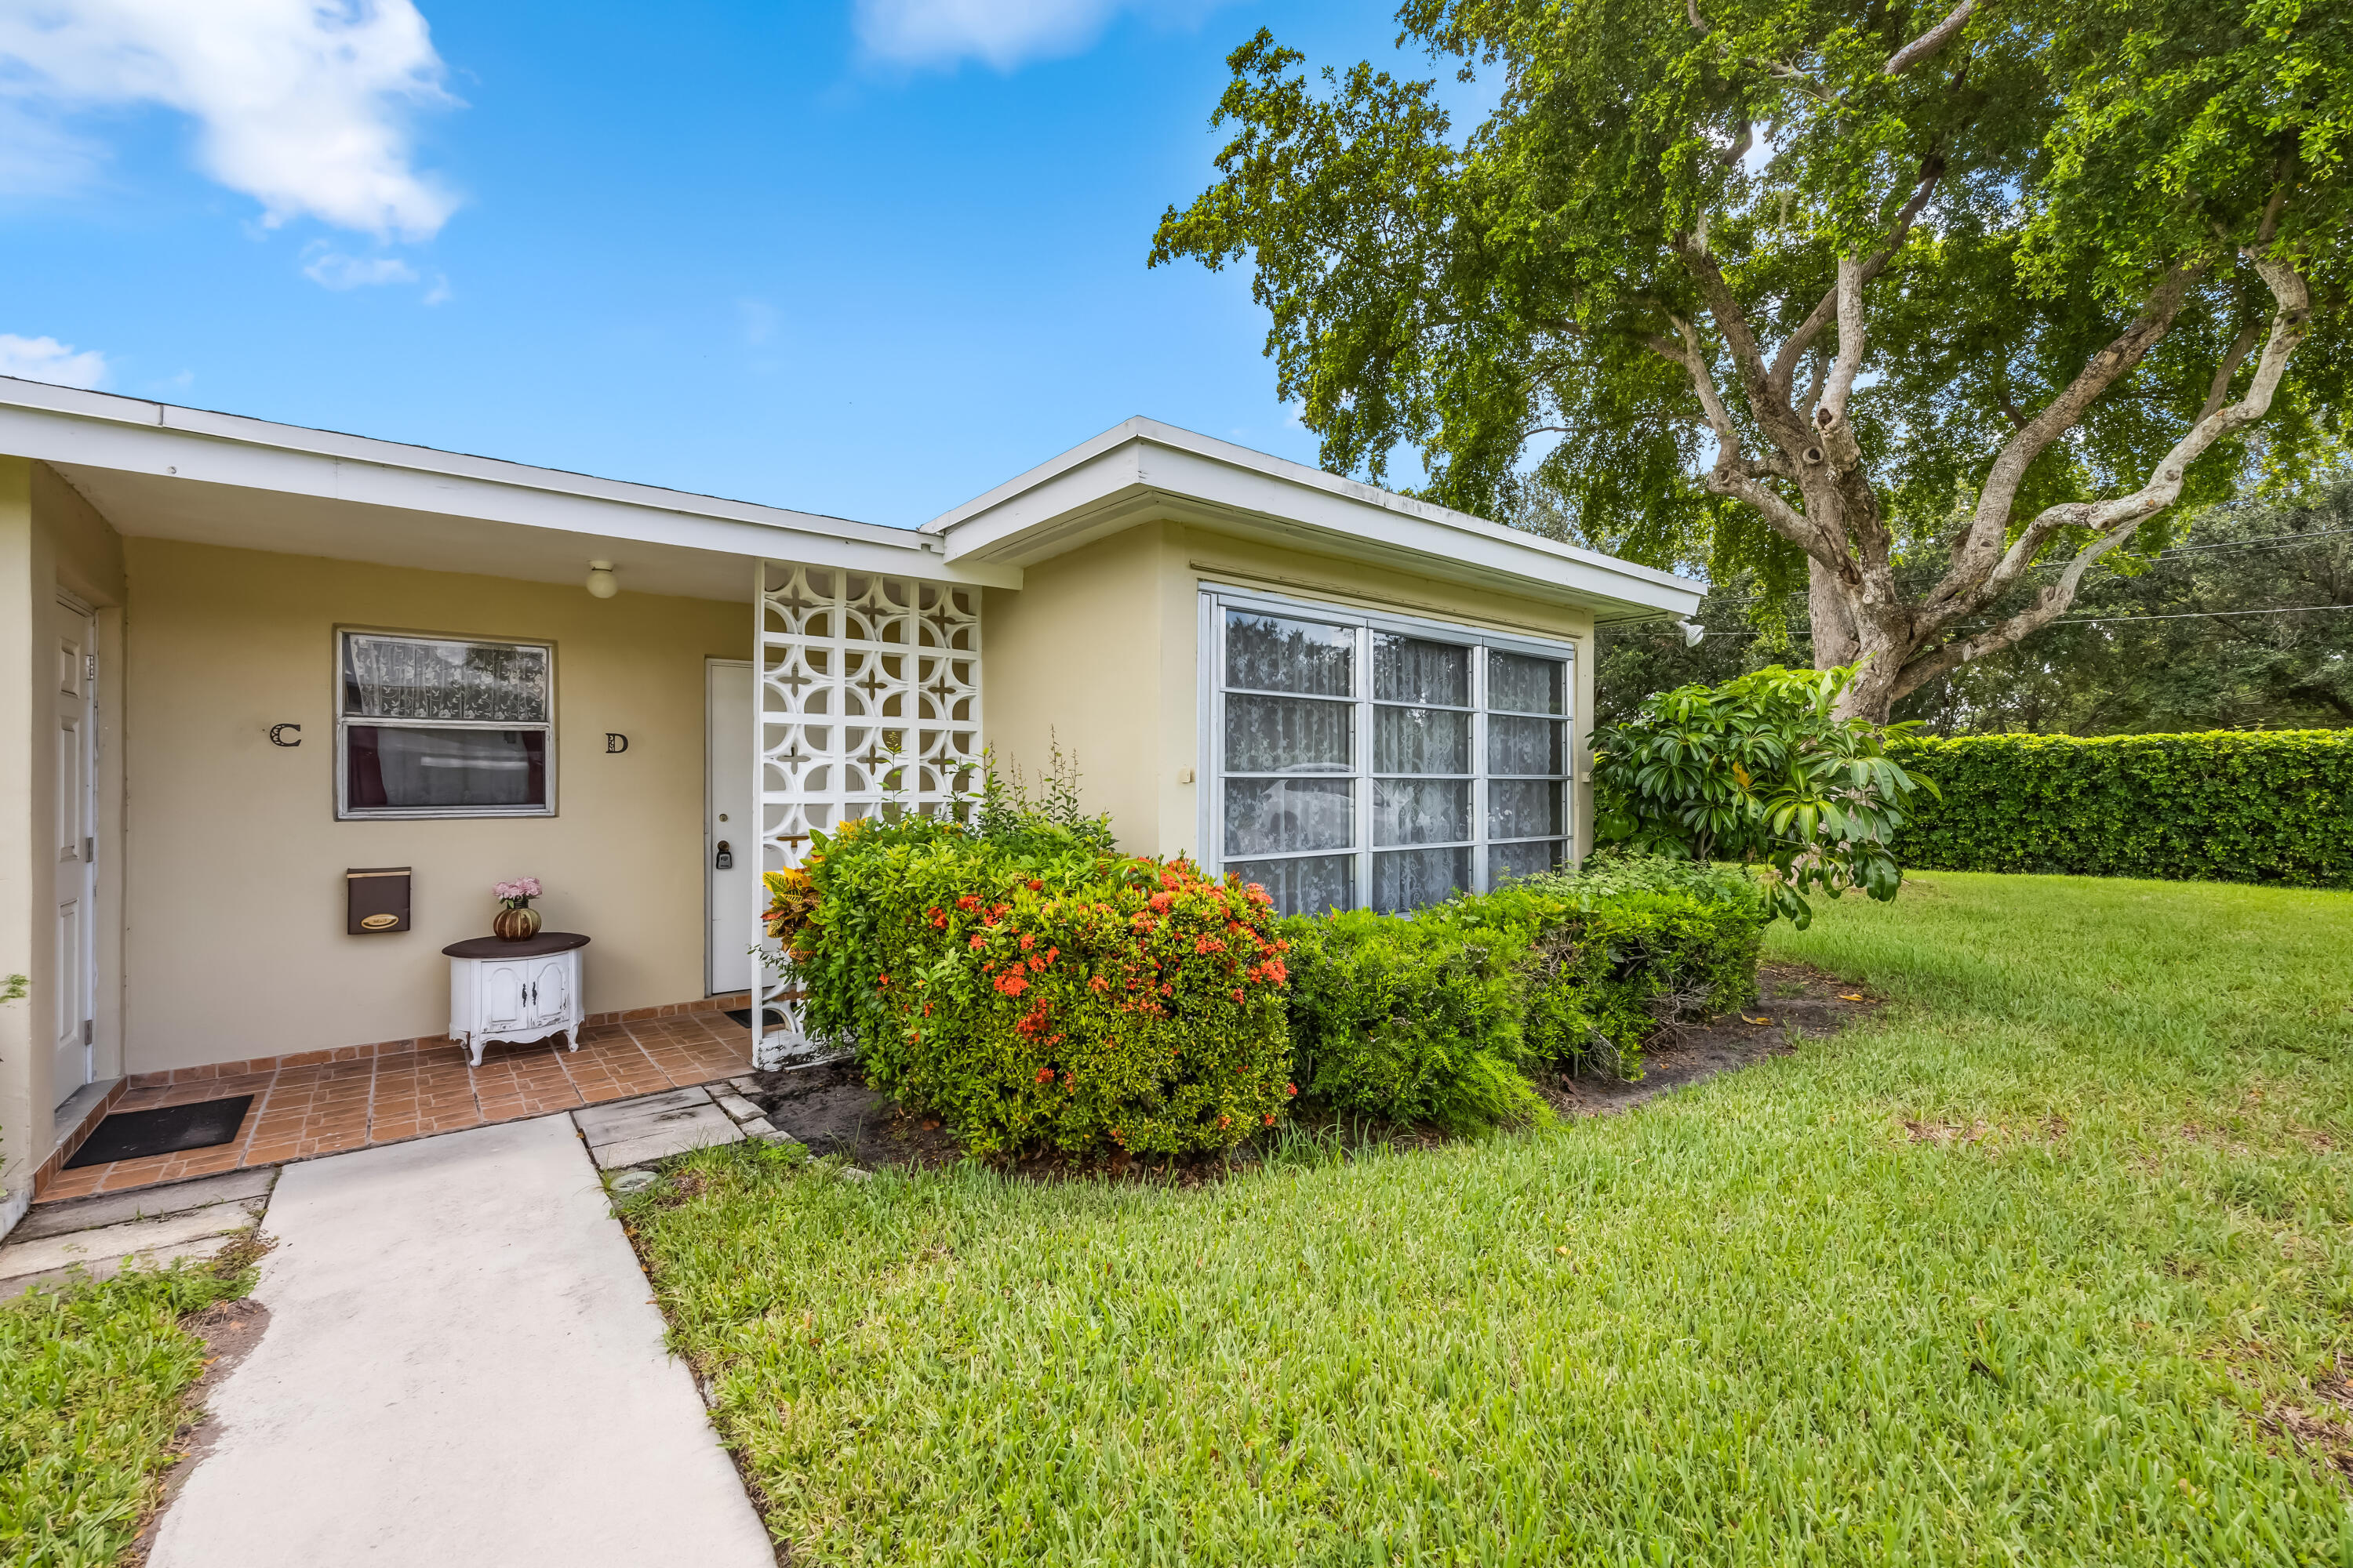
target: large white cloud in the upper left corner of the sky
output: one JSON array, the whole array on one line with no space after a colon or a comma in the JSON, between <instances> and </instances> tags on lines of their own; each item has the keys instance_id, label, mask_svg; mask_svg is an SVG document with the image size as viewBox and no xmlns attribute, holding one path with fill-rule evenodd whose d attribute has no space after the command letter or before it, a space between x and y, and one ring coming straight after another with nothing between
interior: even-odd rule
<instances>
[{"instance_id":1,"label":"large white cloud in the upper left corner of the sky","mask_svg":"<svg viewBox=\"0 0 2353 1568\"><path fill-rule=\"evenodd\" d=\"M0 181L87 174L82 110L160 103L198 122L198 162L294 216L426 240L456 195L412 165L409 115L452 103L412 0L0 0Z\"/></svg>"}]
</instances>

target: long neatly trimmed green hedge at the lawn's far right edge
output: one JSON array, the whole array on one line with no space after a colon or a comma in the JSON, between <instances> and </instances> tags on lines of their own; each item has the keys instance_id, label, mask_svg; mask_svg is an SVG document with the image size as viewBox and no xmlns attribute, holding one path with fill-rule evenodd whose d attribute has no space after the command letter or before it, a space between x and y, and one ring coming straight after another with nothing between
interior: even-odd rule
<instances>
[{"instance_id":1,"label":"long neatly trimmed green hedge at the lawn's far right edge","mask_svg":"<svg viewBox=\"0 0 2353 1568\"><path fill-rule=\"evenodd\" d=\"M1944 792L1913 797L1908 867L2353 886L2353 731L1922 736L1889 755Z\"/></svg>"}]
</instances>

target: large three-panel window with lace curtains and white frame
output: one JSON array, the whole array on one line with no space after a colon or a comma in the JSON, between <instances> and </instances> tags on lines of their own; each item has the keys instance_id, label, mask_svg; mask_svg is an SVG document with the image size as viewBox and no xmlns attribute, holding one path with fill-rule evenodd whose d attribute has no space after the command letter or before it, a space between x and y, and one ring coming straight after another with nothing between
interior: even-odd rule
<instances>
[{"instance_id":1,"label":"large three-panel window with lace curtains and white frame","mask_svg":"<svg viewBox=\"0 0 2353 1568\"><path fill-rule=\"evenodd\" d=\"M1285 914L1414 910L1567 858L1572 649L1205 592L1221 870Z\"/></svg>"}]
</instances>

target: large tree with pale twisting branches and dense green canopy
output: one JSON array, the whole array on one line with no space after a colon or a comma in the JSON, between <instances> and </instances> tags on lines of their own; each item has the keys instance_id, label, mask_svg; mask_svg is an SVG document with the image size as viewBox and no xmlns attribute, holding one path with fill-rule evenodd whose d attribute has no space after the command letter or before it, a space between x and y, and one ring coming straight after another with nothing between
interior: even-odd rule
<instances>
[{"instance_id":1,"label":"large tree with pale twisting branches and dense green canopy","mask_svg":"<svg viewBox=\"0 0 2353 1568\"><path fill-rule=\"evenodd\" d=\"M1842 712L2337 430L2353 7L1409 0L1435 82L1233 56L1153 263L1254 263L1325 465L1807 590ZM1934 557L1920 583L1899 567ZM2019 590L2035 585L2024 599ZM2000 607L1998 616L1988 609Z\"/></svg>"}]
</instances>

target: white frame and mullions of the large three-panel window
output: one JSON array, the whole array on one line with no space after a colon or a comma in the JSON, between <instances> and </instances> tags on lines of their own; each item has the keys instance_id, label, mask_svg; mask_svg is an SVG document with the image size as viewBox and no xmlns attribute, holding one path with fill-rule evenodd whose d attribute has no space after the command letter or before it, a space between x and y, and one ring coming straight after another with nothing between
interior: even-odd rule
<instances>
[{"instance_id":1,"label":"white frame and mullions of the large three-panel window","mask_svg":"<svg viewBox=\"0 0 2353 1568\"><path fill-rule=\"evenodd\" d=\"M1226 611L1264 611L1273 616L1287 616L1294 621L1318 621L1322 625L1346 625L1355 628L1355 849L1351 851L1289 851L1289 853L1266 853L1266 856L1228 856L1226 853ZM1348 853L1355 860L1355 905L1358 910L1374 907L1372 903L1372 858L1374 858L1374 684L1372 684L1372 635L1374 632L1398 632L1405 637L1419 637L1424 642L1449 642L1454 646L1478 649L1471 658L1471 839L1468 844L1386 844L1381 849L1468 849L1471 851L1471 889L1485 893L1492 886L1489 851L1499 844L1534 844L1560 839L1562 863L1577 860L1577 644L1560 642L1551 637L1527 637L1515 632L1497 632L1482 625L1464 625L1459 621L1431 621L1424 616L1400 616L1379 609L1358 609L1351 604L1329 604L1318 599L1294 599L1289 595L1264 592L1254 588L1228 588L1224 583L1200 585L1200 759L1202 769L1198 773L1200 785L1200 863L1202 870L1221 875L1226 860L1308 860L1318 856ZM1487 835L1487 651L1525 654L1532 658L1555 658L1562 665L1560 672L1560 715L1546 715L1560 719L1560 832L1558 835L1534 835L1527 839L1492 839ZM1348 778L1348 773L1327 773L1327 778Z\"/></svg>"}]
</instances>

